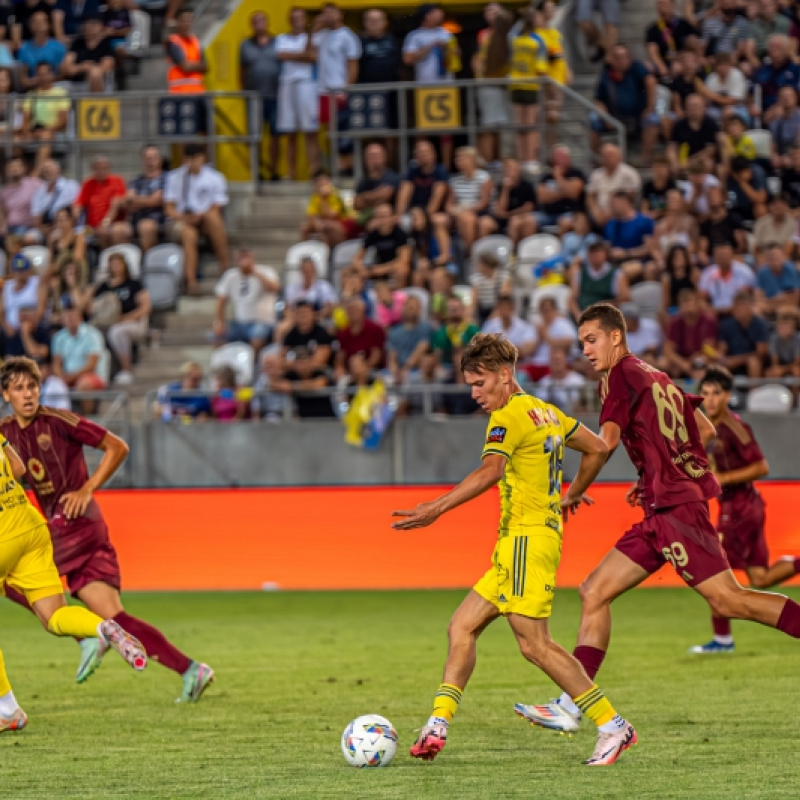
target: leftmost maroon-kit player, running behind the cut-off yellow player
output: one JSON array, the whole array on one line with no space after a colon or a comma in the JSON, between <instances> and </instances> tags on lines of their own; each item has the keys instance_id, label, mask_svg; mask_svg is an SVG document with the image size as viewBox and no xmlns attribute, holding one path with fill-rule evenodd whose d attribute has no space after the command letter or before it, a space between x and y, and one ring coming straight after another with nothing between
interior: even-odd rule
<instances>
[{"instance_id":1,"label":"leftmost maroon-kit player, running behind the cut-off yellow player","mask_svg":"<svg viewBox=\"0 0 800 800\"><path fill-rule=\"evenodd\" d=\"M9 358L0 370L3 398L13 414L0 420L0 432L27 467L26 479L36 494L53 540L54 561L70 593L103 619L113 619L144 645L154 661L183 680L181 702L195 702L214 679L207 665L192 661L161 631L122 607L117 554L100 507L93 497L128 455L128 445L105 428L68 411L39 404L41 374L29 358ZM89 475L83 447L103 451ZM6 595L30 608L25 597L6 586ZM99 666L107 647L99 639L82 639L76 679L83 683Z\"/></svg>"}]
</instances>

